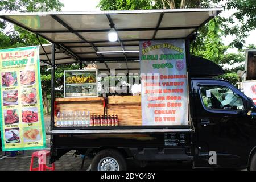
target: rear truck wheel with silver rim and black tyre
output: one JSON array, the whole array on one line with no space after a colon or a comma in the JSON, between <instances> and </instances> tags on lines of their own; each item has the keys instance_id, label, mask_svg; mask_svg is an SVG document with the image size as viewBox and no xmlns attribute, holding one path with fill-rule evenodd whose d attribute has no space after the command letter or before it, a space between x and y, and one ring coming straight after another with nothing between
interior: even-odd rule
<instances>
[{"instance_id":1,"label":"rear truck wheel with silver rim and black tyre","mask_svg":"<svg viewBox=\"0 0 256 182\"><path fill-rule=\"evenodd\" d=\"M126 161L117 150L105 149L94 156L91 169L92 171L125 171Z\"/></svg>"}]
</instances>

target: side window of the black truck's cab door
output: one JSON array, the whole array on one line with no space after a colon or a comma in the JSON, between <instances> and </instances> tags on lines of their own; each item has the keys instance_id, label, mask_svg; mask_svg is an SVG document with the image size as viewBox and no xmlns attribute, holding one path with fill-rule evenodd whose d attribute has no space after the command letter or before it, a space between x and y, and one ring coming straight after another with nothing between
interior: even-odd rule
<instances>
[{"instance_id":1,"label":"side window of the black truck's cab door","mask_svg":"<svg viewBox=\"0 0 256 182\"><path fill-rule=\"evenodd\" d=\"M225 86L200 86L201 99L208 109L244 110L243 100Z\"/></svg>"}]
</instances>

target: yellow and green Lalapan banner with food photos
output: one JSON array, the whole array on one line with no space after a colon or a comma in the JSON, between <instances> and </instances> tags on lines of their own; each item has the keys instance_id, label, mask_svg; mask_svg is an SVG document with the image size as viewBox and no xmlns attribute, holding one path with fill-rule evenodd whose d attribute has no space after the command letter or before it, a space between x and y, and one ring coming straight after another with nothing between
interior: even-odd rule
<instances>
[{"instance_id":1,"label":"yellow and green Lalapan banner with food photos","mask_svg":"<svg viewBox=\"0 0 256 182\"><path fill-rule=\"evenodd\" d=\"M46 146L39 46L0 50L3 151Z\"/></svg>"}]
</instances>

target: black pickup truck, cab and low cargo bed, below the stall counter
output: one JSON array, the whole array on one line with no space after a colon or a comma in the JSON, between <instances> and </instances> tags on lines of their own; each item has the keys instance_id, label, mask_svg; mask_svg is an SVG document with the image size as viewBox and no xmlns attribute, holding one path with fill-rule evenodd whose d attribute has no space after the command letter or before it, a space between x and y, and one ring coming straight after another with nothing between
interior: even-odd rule
<instances>
[{"instance_id":1,"label":"black pickup truck, cab and low cargo bed, below the stall counter","mask_svg":"<svg viewBox=\"0 0 256 182\"><path fill-rule=\"evenodd\" d=\"M192 78L191 127L53 130L51 160L69 150L94 155L92 170L125 170L126 158L191 162L193 168L256 169L256 113L230 82ZM207 97L207 90L211 96Z\"/></svg>"}]
</instances>

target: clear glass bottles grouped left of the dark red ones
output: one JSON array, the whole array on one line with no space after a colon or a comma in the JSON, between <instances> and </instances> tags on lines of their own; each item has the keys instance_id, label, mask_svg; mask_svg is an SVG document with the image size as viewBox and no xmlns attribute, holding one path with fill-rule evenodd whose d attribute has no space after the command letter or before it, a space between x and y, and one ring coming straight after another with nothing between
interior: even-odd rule
<instances>
[{"instance_id":1,"label":"clear glass bottles grouped left of the dark red ones","mask_svg":"<svg viewBox=\"0 0 256 182\"><path fill-rule=\"evenodd\" d=\"M57 113L57 127L88 127L90 126L89 111L63 111Z\"/></svg>"}]
</instances>

